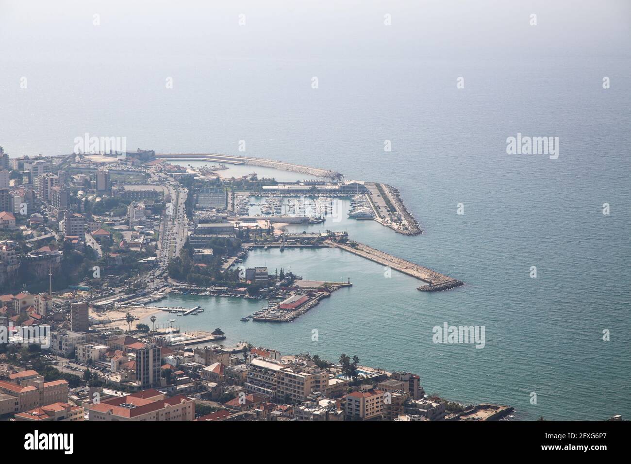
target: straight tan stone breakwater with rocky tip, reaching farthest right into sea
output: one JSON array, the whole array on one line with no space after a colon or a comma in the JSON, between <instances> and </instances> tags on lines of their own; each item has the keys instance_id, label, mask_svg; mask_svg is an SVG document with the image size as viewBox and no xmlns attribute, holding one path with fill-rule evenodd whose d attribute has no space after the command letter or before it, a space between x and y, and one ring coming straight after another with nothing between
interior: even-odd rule
<instances>
[{"instance_id":1,"label":"straight tan stone breakwater with rocky tip, reaching farthest right into sea","mask_svg":"<svg viewBox=\"0 0 631 464\"><path fill-rule=\"evenodd\" d=\"M343 249L348 251L348 253L357 254L357 256L370 259L370 261L379 263L382 266L389 266L391 269L417 278L418 280L422 280L423 282L427 282L428 285L418 287L418 290L422 292L439 292L440 290L448 290L464 285L464 282L461 282L460 280L437 273L436 271L411 263L405 259L396 258L396 256L384 253L383 251L379 251L362 243L353 243L356 244L355 247L338 242L327 241L327 244L331 247Z\"/></svg>"}]
</instances>

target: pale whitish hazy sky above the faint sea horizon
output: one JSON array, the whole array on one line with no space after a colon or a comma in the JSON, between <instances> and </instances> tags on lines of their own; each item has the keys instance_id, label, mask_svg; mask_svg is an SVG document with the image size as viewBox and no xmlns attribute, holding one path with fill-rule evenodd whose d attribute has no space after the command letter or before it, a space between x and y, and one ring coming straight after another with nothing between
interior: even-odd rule
<instances>
[{"instance_id":1,"label":"pale whitish hazy sky above the faint sea horizon","mask_svg":"<svg viewBox=\"0 0 631 464\"><path fill-rule=\"evenodd\" d=\"M628 0L0 0L0 62L76 69L182 56L629 57L629 44Z\"/></svg>"}]
</instances>

